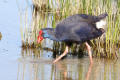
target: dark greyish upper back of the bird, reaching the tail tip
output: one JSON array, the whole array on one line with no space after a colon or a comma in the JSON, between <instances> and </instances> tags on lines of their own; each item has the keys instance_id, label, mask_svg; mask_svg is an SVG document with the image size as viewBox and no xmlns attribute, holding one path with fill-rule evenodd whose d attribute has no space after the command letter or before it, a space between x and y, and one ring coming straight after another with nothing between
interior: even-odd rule
<instances>
[{"instance_id":1,"label":"dark greyish upper back of the bird, reaching the tail tip","mask_svg":"<svg viewBox=\"0 0 120 80\"><path fill-rule=\"evenodd\" d=\"M101 19L104 19L106 16L108 16L107 13L100 14L99 16L92 16L87 14L75 14L63 19L57 25L69 25L70 23L75 23L75 22L96 23Z\"/></svg>"}]
</instances>

